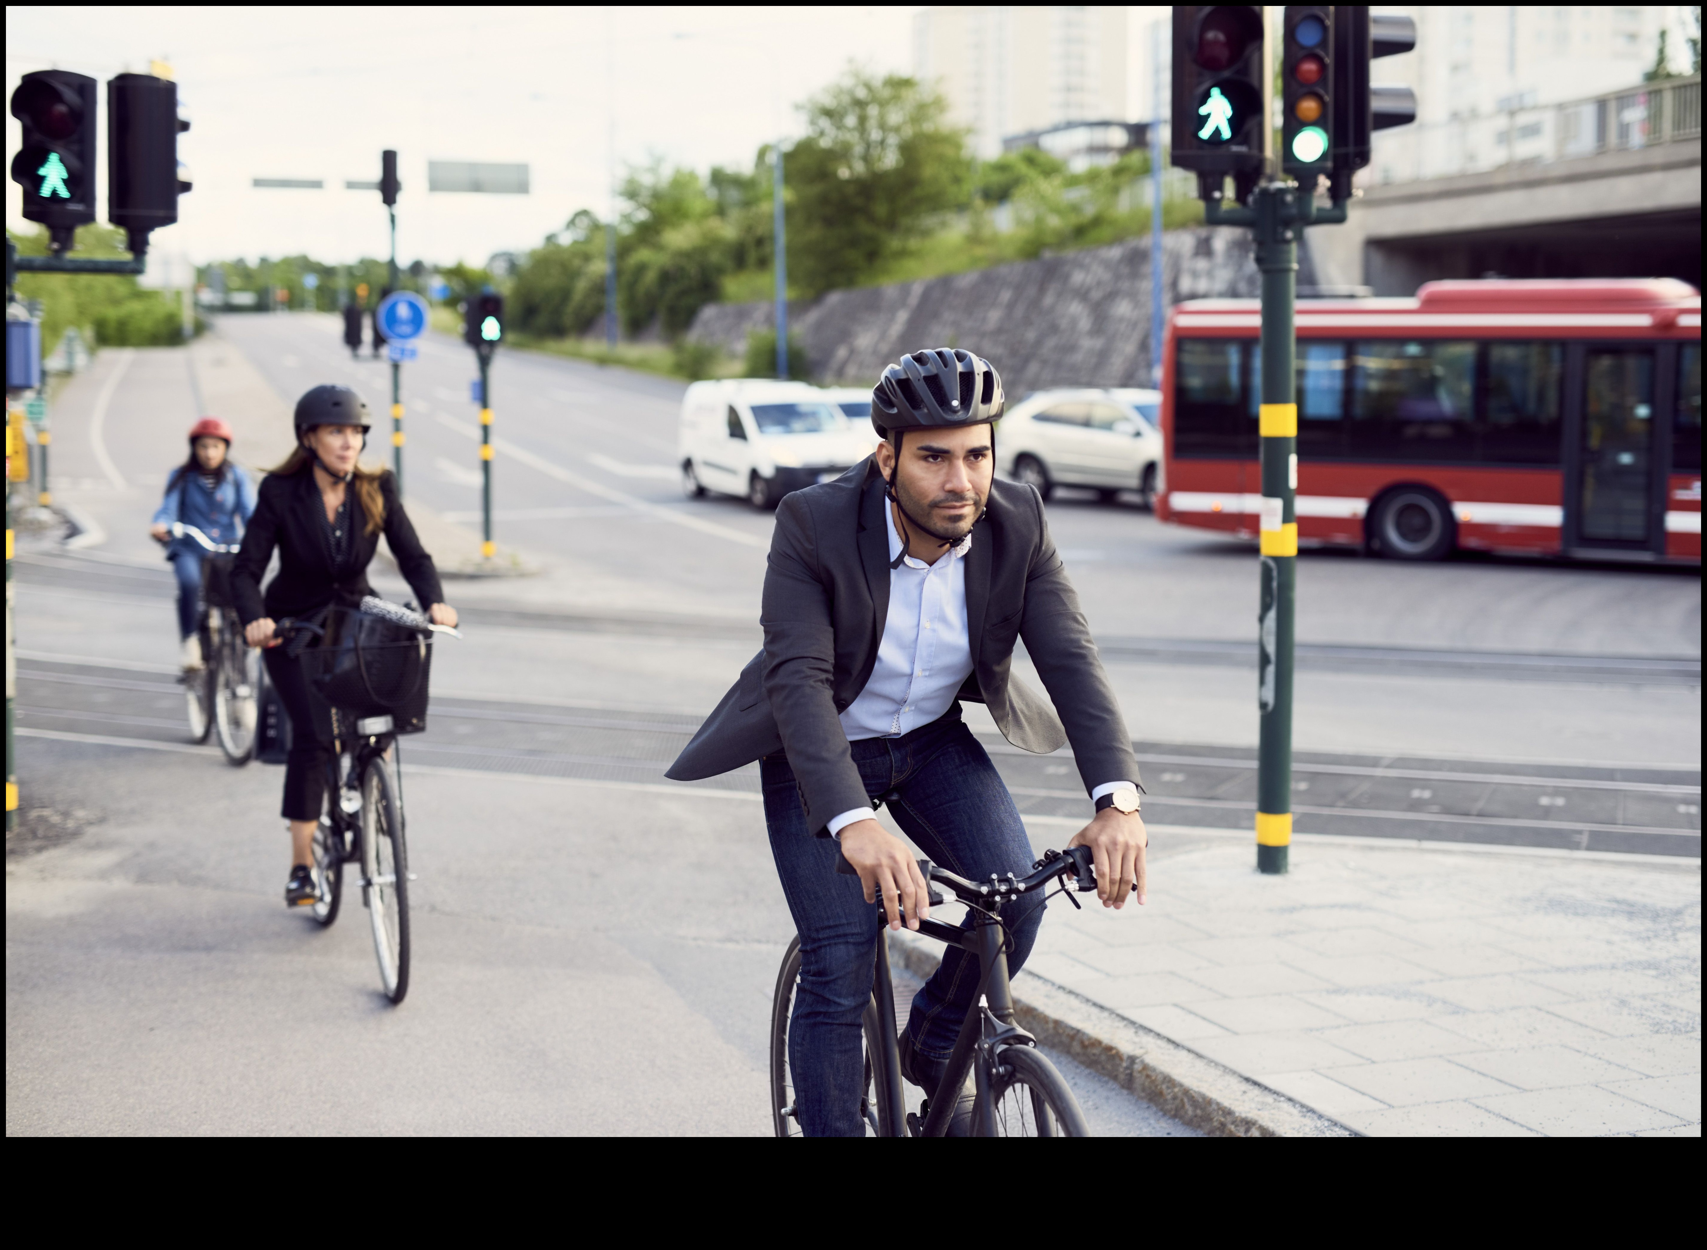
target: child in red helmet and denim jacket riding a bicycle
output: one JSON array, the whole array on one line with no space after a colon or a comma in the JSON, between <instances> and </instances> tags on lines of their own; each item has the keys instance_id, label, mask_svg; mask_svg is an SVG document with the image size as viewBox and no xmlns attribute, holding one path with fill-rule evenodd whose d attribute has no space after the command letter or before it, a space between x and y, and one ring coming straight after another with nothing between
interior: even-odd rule
<instances>
[{"instance_id":1,"label":"child in red helmet and denim jacket riding a bicycle","mask_svg":"<svg viewBox=\"0 0 1707 1250\"><path fill-rule=\"evenodd\" d=\"M166 480L166 499L154 514L149 533L166 543L166 558L178 574L179 663L184 671L201 668L201 557L193 538L172 538L172 523L195 526L215 543L236 543L254 512L254 482L230 461L230 425L203 417L189 430L189 459Z\"/></svg>"}]
</instances>

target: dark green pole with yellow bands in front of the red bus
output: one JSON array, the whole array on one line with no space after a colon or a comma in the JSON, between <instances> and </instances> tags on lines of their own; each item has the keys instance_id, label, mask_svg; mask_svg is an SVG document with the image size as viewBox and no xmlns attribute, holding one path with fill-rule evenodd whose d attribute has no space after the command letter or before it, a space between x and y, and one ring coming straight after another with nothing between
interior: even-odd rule
<instances>
[{"instance_id":1,"label":"dark green pole with yellow bands in front of the red bus","mask_svg":"<svg viewBox=\"0 0 1707 1250\"><path fill-rule=\"evenodd\" d=\"M1292 845L1292 639L1297 598L1297 236L1343 222L1345 205L1316 205L1290 183L1251 191L1250 208L1205 205L1212 225L1250 225L1263 282L1261 531L1256 644L1256 869L1285 873Z\"/></svg>"}]
</instances>

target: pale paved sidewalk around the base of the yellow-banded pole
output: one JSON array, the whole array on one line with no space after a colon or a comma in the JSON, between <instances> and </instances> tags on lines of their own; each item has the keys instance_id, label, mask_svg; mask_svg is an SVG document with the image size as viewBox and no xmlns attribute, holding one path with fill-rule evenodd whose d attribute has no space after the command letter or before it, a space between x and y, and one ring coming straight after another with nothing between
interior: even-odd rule
<instances>
[{"instance_id":1,"label":"pale paved sidewalk around the base of the yellow-banded pole","mask_svg":"<svg viewBox=\"0 0 1707 1250\"><path fill-rule=\"evenodd\" d=\"M1057 900L1028 977L1371 1136L1700 1136L1698 861L1154 837L1151 903Z\"/></svg>"}]
</instances>

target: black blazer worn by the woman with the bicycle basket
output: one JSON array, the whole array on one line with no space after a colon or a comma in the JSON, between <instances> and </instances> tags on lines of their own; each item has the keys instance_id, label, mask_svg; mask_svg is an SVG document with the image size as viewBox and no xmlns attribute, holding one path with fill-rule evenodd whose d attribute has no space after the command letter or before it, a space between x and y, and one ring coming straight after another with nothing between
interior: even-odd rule
<instances>
[{"instance_id":1,"label":"black blazer worn by the woman with the bicycle basket","mask_svg":"<svg viewBox=\"0 0 1707 1250\"><path fill-rule=\"evenodd\" d=\"M328 603L347 608L360 605L364 594L372 594L367 584L367 565L379 548L379 533L367 533L367 516L348 488L350 552L341 569L331 567L331 553L321 533L324 504L314 483L314 470L280 476L270 473L261 482L259 500L249 528L242 534L242 550L230 570L230 587L237 599L237 615L248 625L261 616L302 616ZM439 570L432 557L415 536L403 504L398 500L398 480L386 470L379 478L379 494L386 500L386 523L381 533L391 545L403 577L420 606L444 603ZM278 548L278 575L261 598L261 575L266 572L273 548Z\"/></svg>"}]
</instances>

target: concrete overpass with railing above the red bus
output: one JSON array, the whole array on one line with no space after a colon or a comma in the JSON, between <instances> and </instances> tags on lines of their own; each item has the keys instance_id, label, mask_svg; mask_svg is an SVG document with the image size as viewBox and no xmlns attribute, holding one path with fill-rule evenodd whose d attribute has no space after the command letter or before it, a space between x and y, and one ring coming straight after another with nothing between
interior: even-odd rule
<instances>
[{"instance_id":1,"label":"concrete overpass with railing above the red bus","mask_svg":"<svg viewBox=\"0 0 1707 1250\"><path fill-rule=\"evenodd\" d=\"M1693 135L1673 126L1642 147L1369 188L1345 225L1308 232L1301 287L1410 295L1434 278L1485 275L1673 277L1700 287L1698 79L1693 99ZM1688 111L1666 113L1690 123Z\"/></svg>"}]
</instances>

